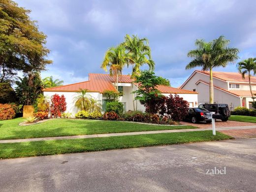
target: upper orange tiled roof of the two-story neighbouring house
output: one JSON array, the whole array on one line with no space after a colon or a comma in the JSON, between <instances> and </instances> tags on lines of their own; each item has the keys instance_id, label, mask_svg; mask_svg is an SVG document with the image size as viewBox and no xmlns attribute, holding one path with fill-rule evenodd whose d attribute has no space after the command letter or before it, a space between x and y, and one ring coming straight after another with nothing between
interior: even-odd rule
<instances>
[{"instance_id":1,"label":"upper orange tiled roof of the two-story neighbouring house","mask_svg":"<svg viewBox=\"0 0 256 192\"><path fill-rule=\"evenodd\" d=\"M196 70L198 72L204 73L209 75L209 71L200 71ZM243 79L242 75L238 72L221 72L221 71L213 71L213 77L216 77L218 79L221 79L223 81L237 81L237 82L249 82L248 75L245 76L245 79ZM256 83L256 77L251 77L251 82Z\"/></svg>"}]
</instances>

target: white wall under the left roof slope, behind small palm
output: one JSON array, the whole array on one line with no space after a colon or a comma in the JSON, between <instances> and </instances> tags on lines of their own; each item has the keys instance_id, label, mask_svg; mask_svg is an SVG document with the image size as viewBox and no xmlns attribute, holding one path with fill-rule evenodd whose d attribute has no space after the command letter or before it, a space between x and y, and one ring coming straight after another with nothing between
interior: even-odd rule
<instances>
[{"instance_id":1,"label":"white wall under the left roof slope, behind small palm","mask_svg":"<svg viewBox=\"0 0 256 192\"><path fill-rule=\"evenodd\" d=\"M76 92L44 92L45 96L53 96L58 94L59 96L64 95L66 99L66 112L72 113L75 115L79 110L74 106L74 97L78 95ZM97 100L101 100L102 103L102 94L100 93L88 93L88 95L94 97Z\"/></svg>"}]
</instances>

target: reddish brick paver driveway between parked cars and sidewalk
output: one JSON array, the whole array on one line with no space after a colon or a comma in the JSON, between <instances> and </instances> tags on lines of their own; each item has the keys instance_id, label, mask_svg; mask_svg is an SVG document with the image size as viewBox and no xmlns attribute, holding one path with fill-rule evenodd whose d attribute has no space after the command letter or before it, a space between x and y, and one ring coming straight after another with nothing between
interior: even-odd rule
<instances>
[{"instance_id":1,"label":"reddish brick paver driveway between parked cars and sidewalk","mask_svg":"<svg viewBox=\"0 0 256 192\"><path fill-rule=\"evenodd\" d=\"M204 122L199 122L197 124L192 124L191 122L181 122L181 124L184 125L190 125L190 126L195 126L198 128L211 128L212 124L211 123L204 123ZM255 123L246 123L246 122L238 122L238 121L227 121L227 122L222 122L221 120L216 121L216 128L221 128L221 127L244 127L244 126L255 126Z\"/></svg>"}]
</instances>

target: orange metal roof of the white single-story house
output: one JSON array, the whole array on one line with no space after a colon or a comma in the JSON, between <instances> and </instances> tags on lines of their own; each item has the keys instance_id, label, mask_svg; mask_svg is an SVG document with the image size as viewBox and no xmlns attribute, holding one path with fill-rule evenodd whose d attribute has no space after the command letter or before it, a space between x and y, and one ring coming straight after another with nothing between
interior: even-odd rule
<instances>
[{"instance_id":1,"label":"orange metal roof of the white single-story house","mask_svg":"<svg viewBox=\"0 0 256 192\"><path fill-rule=\"evenodd\" d=\"M79 89L88 89L89 92L99 92L103 93L105 90L117 91L113 85L115 82L114 77L109 74L89 74L89 81L84 81L80 83L74 83L69 85L63 85L59 87L46 88L44 92L78 92ZM132 83L130 75L121 75L118 78L119 83ZM198 94L197 92L192 92L188 90L168 87L164 85L159 85L158 90L161 93L166 94Z\"/></svg>"}]
</instances>

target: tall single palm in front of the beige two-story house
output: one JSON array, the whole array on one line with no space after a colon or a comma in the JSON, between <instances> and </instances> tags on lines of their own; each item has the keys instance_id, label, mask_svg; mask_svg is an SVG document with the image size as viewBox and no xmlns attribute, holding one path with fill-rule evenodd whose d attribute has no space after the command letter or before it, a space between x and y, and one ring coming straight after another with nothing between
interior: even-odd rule
<instances>
[{"instance_id":1,"label":"tall single palm in front of the beige two-story house","mask_svg":"<svg viewBox=\"0 0 256 192\"><path fill-rule=\"evenodd\" d=\"M236 48L227 47L230 41L220 36L210 42L205 42L203 39L197 39L195 45L197 48L188 53L188 57L194 58L187 66L186 69L194 67L202 67L202 70L210 71L209 82L209 101L214 102L213 94L213 74L214 67L225 67L229 62L235 62L238 59L239 50Z\"/></svg>"}]
</instances>

